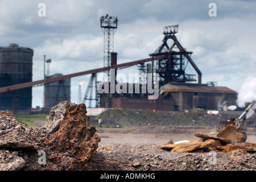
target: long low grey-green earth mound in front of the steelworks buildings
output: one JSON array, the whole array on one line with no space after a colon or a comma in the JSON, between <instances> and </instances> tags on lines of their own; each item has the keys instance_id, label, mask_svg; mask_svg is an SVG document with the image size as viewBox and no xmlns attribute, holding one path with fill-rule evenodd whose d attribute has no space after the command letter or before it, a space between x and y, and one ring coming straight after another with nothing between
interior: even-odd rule
<instances>
[{"instance_id":1,"label":"long low grey-green earth mound in front of the steelworks buildings","mask_svg":"<svg viewBox=\"0 0 256 182\"><path fill-rule=\"evenodd\" d=\"M111 126L217 126L227 118L236 118L242 111L219 111L218 114L207 114L204 111L153 111L138 109L109 109L97 116L90 116L90 123ZM90 113L88 113L90 115ZM256 126L256 115L248 119L249 127Z\"/></svg>"}]
</instances>

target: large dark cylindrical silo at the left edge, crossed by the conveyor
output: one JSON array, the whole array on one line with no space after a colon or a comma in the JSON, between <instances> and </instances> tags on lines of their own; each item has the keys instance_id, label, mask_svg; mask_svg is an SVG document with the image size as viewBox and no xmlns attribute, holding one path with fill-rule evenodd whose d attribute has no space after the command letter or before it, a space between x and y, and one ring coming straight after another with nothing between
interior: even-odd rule
<instances>
[{"instance_id":1,"label":"large dark cylindrical silo at the left edge, crossed by the conveyor","mask_svg":"<svg viewBox=\"0 0 256 182\"><path fill-rule=\"evenodd\" d=\"M9 44L0 47L0 87L32 81L31 48ZM27 112L32 106L32 88L0 93L0 110Z\"/></svg>"}]
</instances>

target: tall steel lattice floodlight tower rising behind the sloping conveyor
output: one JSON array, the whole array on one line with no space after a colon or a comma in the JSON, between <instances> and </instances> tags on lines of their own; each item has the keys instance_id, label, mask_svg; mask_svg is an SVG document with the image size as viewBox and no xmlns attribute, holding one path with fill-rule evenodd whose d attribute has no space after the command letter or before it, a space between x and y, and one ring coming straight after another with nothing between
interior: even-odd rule
<instances>
[{"instance_id":1,"label":"tall steel lattice floodlight tower rising behind the sloping conveyor","mask_svg":"<svg viewBox=\"0 0 256 182\"><path fill-rule=\"evenodd\" d=\"M110 66L111 53L114 52L114 33L117 29L117 17L101 16L101 28L104 33L104 67ZM105 71L110 77L110 71ZM108 80L109 81L109 80Z\"/></svg>"}]
</instances>

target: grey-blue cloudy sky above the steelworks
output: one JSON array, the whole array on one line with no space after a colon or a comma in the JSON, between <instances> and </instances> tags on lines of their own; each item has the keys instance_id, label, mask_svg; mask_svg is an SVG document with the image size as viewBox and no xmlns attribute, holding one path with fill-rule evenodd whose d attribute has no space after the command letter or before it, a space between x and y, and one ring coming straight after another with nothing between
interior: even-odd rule
<instances>
[{"instance_id":1,"label":"grey-blue cloudy sky above the steelworks","mask_svg":"<svg viewBox=\"0 0 256 182\"><path fill-rule=\"evenodd\" d=\"M217 16L210 17L212 2ZM46 16L38 16L39 3L45 3ZM228 0L1 0L0 46L18 43L34 49L36 81L43 79L43 55L52 59L51 74L103 67L102 15L118 17L118 64L148 58L162 43L163 27L179 24L176 36L193 52L202 82L216 81L235 90L243 104L256 99L255 8L256 1ZM81 81L84 96L89 77L72 78L72 102L77 102ZM42 105L43 87L33 88L32 106Z\"/></svg>"}]
</instances>

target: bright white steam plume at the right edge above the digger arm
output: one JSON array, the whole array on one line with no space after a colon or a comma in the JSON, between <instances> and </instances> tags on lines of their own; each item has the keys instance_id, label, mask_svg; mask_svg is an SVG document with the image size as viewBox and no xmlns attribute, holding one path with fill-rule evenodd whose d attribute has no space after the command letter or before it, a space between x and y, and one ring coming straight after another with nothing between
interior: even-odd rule
<instances>
[{"instance_id":1,"label":"bright white steam plume at the right edge above the digger arm","mask_svg":"<svg viewBox=\"0 0 256 182\"><path fill-rule=\"evenodd\" d=\"M249 76L243 82L237 97L237 105L245 107L245 102L256 100L256 77Z\"/></svg>"}]
</instances>

